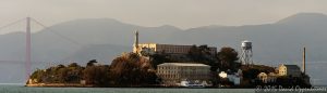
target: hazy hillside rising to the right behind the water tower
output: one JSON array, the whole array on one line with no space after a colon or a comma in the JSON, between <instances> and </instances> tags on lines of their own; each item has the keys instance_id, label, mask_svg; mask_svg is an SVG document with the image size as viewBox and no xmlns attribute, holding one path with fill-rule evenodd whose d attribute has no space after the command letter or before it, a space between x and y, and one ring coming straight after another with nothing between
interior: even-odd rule
<instances>
[{"instance_id":1,"label":"hazy hillside rising to the right behind the water tower","mask_svg":"<svg viewBox=\"0 0 327 93\"><path fill-rule=\"evenodd\" d=\"M313 19L313 21L311 21ZM308 61L327 61L327 16L301 13L275 24L246 26L209 26L175 32L169 37L173 43L229 45L240 51L242 40L253 41L256 62L301 61L301 50L307 48ZM299 63L300 64L300 63Z\"/></svg>"}]
</instances>

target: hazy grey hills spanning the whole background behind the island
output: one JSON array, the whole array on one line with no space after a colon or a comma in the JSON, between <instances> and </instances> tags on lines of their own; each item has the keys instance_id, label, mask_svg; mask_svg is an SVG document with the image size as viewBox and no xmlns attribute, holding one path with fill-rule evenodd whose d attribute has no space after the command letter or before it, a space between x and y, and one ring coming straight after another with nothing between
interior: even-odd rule
<instances>
[{"instance_id":1,"label":"hazy grey hills spanning the whole background behind the island","mask_svg":"<svg viewBox=\"0 0 327 93\"><path fill-rule=\"evenodd\" d=\"M72 43L56 36L49 29L78 43ZM299 61L302 59L301 51L304 45L307 49L308 62L327 61L327 50L324 50L327 46L327 43L324 43L327 40L327 16L318 13L300 13L274 24L211 25L186 30L169 25L144 27L110 18L70 21L50 26L49 29L32 35L34 62L85 63L87 62L85 59L96 58L110 63L116 55L132 50L135 29L140 30L140 42L208 44L217 46L218 50L228 45L240 51L241 41L250 40L253 41L254 61L258 62L257 64L300 65ZM24 32L0 35L0 59L24 61ZM9 69L1 68L0 70ZM3 72L0 71L1 75L4 75Z\"/></svg>"}]
</instances>

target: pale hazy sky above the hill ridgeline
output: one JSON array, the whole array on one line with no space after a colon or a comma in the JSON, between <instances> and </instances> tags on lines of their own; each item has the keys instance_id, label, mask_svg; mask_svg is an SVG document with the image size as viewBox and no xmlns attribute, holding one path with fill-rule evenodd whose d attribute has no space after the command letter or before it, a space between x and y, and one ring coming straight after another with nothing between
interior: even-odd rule
<instances>
[{"instance_id":1,"label":"pale hazy sky above the hill ridgeline","mask_svg":"<svg viewBox=\"0 0 327 93\"><path fill-rule=\"evenodd\" d=\"M141 26L274 23L300 12L327 14L327 0L0 0L0 26L32 16L46 25L116 18Z\"/></svg>"}]
</instances>

